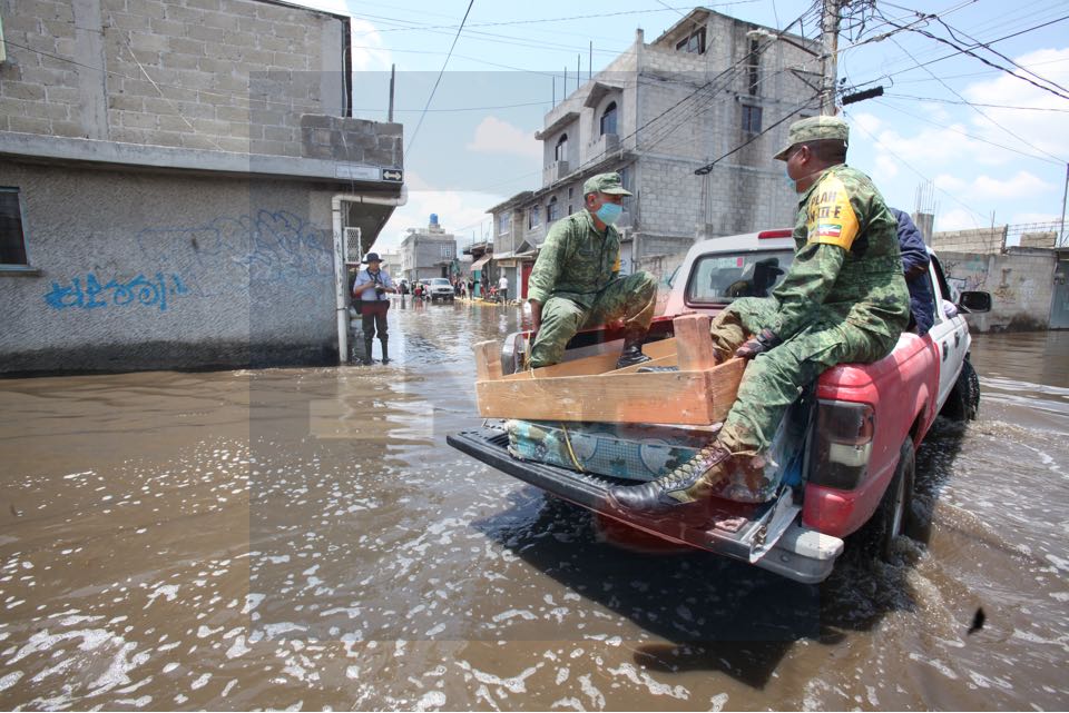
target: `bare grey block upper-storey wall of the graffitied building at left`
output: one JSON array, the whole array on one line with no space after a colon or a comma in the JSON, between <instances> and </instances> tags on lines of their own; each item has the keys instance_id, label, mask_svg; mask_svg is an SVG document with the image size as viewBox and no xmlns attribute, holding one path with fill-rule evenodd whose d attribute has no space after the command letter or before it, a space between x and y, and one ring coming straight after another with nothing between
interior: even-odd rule
<instances>
[{"instance_id":1,"label":"bare grey block upper-storey wall of the graffitied building at left","mask_svg":"<svg viewBox=\"0 0 1069 713\"><path fill-rule=\"evenodd\" d=\"M302 157L316 143L302 117L343 113L346 26L322 12L256 0L0 0L0 130ZM371 126L311 128L333 131L332 147L352 129L361 150L349 160L400 166L400 126L384 137Z\"/></svg>"}]
</instances>

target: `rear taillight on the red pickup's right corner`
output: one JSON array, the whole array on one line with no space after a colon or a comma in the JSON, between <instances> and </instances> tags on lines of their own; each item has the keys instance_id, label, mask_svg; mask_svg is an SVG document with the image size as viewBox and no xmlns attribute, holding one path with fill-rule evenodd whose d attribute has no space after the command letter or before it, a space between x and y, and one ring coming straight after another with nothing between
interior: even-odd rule
<instances>
[{"instance_id":1,"label":"rear taillight on the red pickup's right corner","mask_svg":"<svg viewBox=\"0 0 1069 713\"><path fill-rule=\"evenodd\" d=\"M865 479L875 413L869 404L821 400L810 449L810 483L851 491Z\"/></svg>"}]
</instances>

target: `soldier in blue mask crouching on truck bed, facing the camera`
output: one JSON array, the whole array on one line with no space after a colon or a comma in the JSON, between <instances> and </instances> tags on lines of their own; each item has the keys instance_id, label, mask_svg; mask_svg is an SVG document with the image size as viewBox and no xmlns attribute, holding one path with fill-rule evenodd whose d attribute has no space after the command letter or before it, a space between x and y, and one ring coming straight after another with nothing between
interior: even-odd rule
<instances>
[{"instance_id":1,"label":"soldier in blue mask crouching on truck bed, facing the camera","mask_svg":"<svg viewBox=\"0 0 1069 713\"><path fill-rule=\"evenodd\" d=\"M582 185L586 210L553 224L528 281L533 335L530 366L560 362L565 345L583 327L624 319L624 350L617 368L648 362L641 345L657 300L649 273L619 277L622 212L619 174L600 174Z\"/></svg>"}]
</instances>

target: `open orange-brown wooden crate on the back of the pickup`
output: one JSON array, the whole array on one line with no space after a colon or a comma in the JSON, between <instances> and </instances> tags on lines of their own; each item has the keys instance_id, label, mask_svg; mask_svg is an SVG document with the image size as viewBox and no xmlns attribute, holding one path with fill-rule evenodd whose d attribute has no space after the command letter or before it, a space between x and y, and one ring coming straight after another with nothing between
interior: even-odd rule
<instances>
[{"instance_id":1,"label":"open orange-brown wooden crate on the back of the pickup","mask_svg":"<svg viewBox=\"0 0 1069 713\"><path fill-rule=\"evenodd\" d=\"M714 365L709 318L673 320L676 337L643 347L644 365L617 369L616 353L501 375L497 341L475 345L475 399L484 418L588 420L708 426L727 416L746 368L744 359ZM639 366L678 372L638 374Z\"/></svg>"}]
</instances>

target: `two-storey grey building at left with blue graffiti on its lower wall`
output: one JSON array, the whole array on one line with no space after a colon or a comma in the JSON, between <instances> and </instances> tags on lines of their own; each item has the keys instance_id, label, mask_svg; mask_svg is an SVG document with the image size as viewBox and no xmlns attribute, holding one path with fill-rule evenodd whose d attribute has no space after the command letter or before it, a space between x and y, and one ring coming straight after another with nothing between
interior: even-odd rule
<instances>
[{"instance_id":1,"label":"two-storey grey building at left with blue graffiti on its lower wall","mask_svg":"<svg viewBox=\"0 0 1069 713\"><path fill-rule=\"evenodd\" d=\"M0 0L0 372L332 363L345 240L403 202L350 20Z\"/></svg>"}]
</instances>

